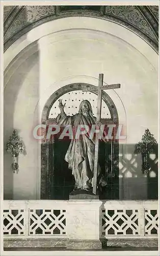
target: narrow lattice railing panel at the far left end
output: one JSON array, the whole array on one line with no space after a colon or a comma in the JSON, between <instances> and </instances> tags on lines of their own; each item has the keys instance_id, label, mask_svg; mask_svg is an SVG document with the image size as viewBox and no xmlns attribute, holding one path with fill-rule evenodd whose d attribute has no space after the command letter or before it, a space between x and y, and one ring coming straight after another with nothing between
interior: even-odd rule
<instances>
[{"instance_id":1,"label":"narrow lattice railing panel at the far left end","mask_svg":"<svg viewBox=\"0 0 160 256\"><path fill-rule=\"evenodd\" d=\"M4 210L4 236L24 236L24 209Z\"/></svg>"}]
</instances>

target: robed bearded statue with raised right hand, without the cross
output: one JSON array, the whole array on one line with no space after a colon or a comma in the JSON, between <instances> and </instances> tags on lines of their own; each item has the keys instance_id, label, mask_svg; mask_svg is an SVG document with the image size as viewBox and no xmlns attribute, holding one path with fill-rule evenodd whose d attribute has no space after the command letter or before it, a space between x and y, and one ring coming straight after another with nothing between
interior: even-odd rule
<instances>
[{"instance_id":1,"label":"robed bearded statue with raised right hand, without the cross","mask_svg":"<svg viewBox=\"0 0 160 256\"><path fill-rule=\"evenodd\" d=\"M65 103L66 104L66 103ZM96 124L96 118L92 113L92 106L88 100L83 100L79 106L79 112L73 116L67 116L64 112L64 106L60 100L59 108L61 113L56 118L56 123L62 126L72 125L76 130L78 125L92 126ZM68 168L72 169L75 179L74 189L90 190L92 187L93 169L94 169L94 137L90 138L89 133L80 134L78 138L73 136L65 161L68 162ZM104 176L101 174L98 165L98 185L106 186Z\"/></svg>"}]
</instances>

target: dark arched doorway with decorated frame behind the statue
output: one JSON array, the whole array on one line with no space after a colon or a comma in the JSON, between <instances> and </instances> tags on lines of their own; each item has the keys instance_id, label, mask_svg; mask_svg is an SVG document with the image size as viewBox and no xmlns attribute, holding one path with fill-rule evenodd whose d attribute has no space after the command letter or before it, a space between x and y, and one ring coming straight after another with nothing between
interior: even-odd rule
<instances>
[{"instance_id":1,"label":"dark arched doorway with decorated frame behind the statue","mask_svg":"<svg viewBox=\"0 0 160 256\"><path fill-rule=\"evenodd\" d=\"M86 88L88 89L88 95L87 93L83 93ZM54 92L44 105L41 119L42 124L46 124L48 126L49 124L55 123L55 118L49 118L50 111L53 105L60 98L62 99L67 93L69 93L69 100L72 102L75 102L74 93L77 94L79 91L79 93L82 94L79 95L82 96L79 97L81 100L78 98L77 102L75 103L78 106L80 103L79 101L82 101L83 99L88 99L90 101L96 100L97 91L91 91L91 88L96 89L95 86L88 83L71 83ZM102 102L103 108L105 108L105 105L106 108L108 108L110 118L103 115L101 122L105 125L116 124L116 129L113 132L113 140L110 140L108 143L104 143L102 141L100 142L99 164L101 165L103 174L106 176L109 184L108 189L103 191L101 199L118 199L119 142L116 139L116 130L119 123L118 112L112 98L104 91L102 92ZM97 102L95 103L94 101L94 104L97 104ZM74 105L72 108L77 108L77 106ZM76 113L77 112L78 109L76 109ZM69 193L73 189L74 180L71 175L71 170L68 169L67 163L64 160L70 140L66 141L66 139L64 139L61 141L58 139L59 136L60 135L52 136L49 141L44 139L41 143L41 199L66 200L69 199Z\"/></svg>"}]
</instances>

